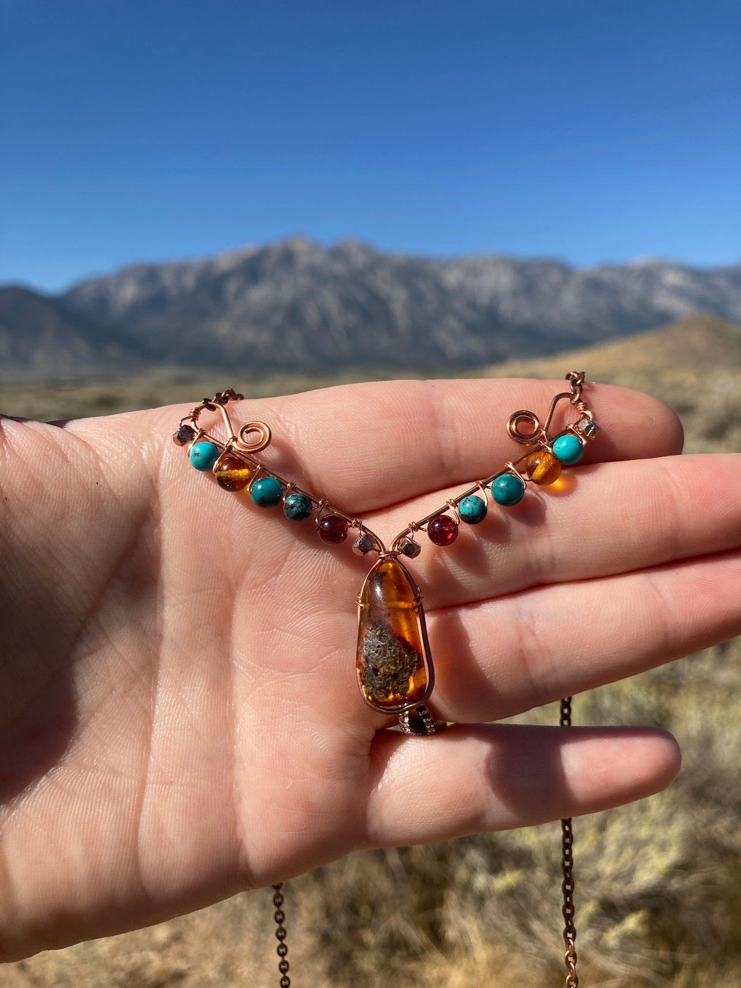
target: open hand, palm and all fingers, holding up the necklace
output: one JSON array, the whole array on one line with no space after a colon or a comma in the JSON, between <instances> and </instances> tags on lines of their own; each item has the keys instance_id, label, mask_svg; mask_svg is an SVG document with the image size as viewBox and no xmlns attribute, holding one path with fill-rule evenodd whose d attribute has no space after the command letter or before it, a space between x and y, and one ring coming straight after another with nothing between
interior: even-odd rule
<instances>
[{"instance_id":1,"label":"open hand, palm and all fingers, holding up the necklace","mask_svg":"<svg viewBox=\"0 0 741 988\"><path fill-rule=\"evenodd\" d=\"M562 388L396 381L231 414L271 425L269 468L388 542L511 458L509 414ZM170 438L187 407L2 419L3 958L360 848L578 816L671 782L680 753L659 728L482 723L741 631L739 457L680 457L676 416L646 395L585 397L603 431L563 484L490 505L448 548L423 536L409 562L430 703L454 722L432 738L382 730L357 689L373 557L194 470Z\"/></svg>"}]
</instances>

